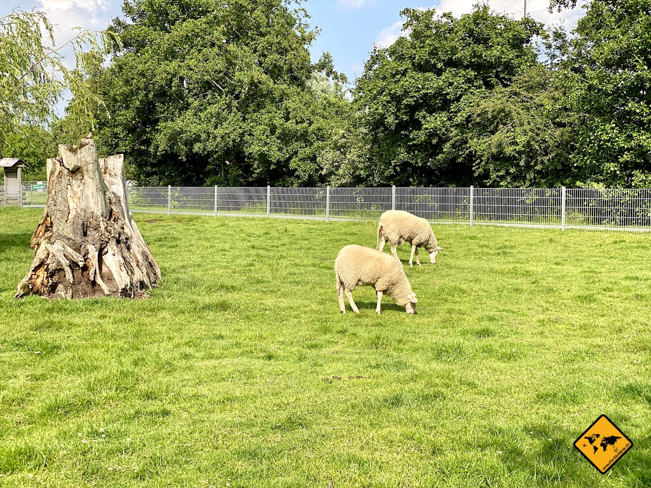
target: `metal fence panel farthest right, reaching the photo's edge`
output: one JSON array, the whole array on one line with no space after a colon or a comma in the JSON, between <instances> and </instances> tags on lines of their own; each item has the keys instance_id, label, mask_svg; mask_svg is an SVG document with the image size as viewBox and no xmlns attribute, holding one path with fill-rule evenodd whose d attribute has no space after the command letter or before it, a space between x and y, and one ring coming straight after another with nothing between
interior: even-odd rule
<instances>
[{"instance_id":1,"label":"metal fence panel farthest right, reaching the photo's edge","mask_svg":"<svg viewBox=\"0 0 651 488\"><path fill-rule=\"evenodd\" d=\"M566 225L651 226L651 189L568 189Z\"/></svg>"}]
</instances>

